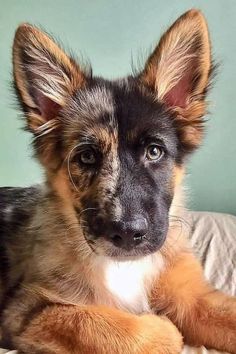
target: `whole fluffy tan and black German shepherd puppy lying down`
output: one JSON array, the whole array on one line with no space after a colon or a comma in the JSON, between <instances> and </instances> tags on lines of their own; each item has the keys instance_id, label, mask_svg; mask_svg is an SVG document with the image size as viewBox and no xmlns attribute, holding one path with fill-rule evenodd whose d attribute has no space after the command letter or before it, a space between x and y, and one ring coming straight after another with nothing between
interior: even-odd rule
<instances>
[{"instance_id":1,"label":"whole fluffy tan and black German shepherd puppy lying down","mask_svg":"<svg viewBox=\"0 0 236 354\"><path fill-rule=\"evenodd\" d=\"M162 36L144 68L93 77L21 25L14 82L45 184L1 188L2 345L27 354L236 353L236 299L212 289L181 218L187 156L212 73L203 15Z\"/></svg>"}]
</instances>

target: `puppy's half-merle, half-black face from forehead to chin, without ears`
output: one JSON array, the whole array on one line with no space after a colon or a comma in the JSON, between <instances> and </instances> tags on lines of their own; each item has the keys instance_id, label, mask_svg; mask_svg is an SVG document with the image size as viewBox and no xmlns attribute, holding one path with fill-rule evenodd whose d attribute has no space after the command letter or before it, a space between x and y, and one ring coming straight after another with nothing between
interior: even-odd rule
<instances>
[{"instance_id":1,"label":"puppy's half-merle, half-black face from forehead to chin, without ears","mask_svg":"<svg viewBox=\"0 0 236 354\"><path fill-rule=\"evenodd\" d=\"M110 256L164 242L178 139L163 104L130 78L91 80L62 111L74 206L86 239ZM77 202L78 200L78 202Z\"/></svg>"}]
</instances>

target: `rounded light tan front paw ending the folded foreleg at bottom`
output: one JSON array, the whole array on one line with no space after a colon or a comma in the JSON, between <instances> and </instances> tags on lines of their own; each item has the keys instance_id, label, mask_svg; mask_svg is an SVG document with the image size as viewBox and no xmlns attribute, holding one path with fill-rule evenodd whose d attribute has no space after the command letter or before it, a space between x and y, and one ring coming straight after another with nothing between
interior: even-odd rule
<instances>
[{"instance_id":1,"label":"rounded light tan front paw ending the folded foreleg at bottom","mask_svg":"<svg viewBox=\"0 0 236 354\"><path fill-rule=\"evenodd\" d=\"M179 354L183 348L183 338L175 325L167 317L144 315L140 317L142 326L140 354Z\"/></svg>"}]
</instances>

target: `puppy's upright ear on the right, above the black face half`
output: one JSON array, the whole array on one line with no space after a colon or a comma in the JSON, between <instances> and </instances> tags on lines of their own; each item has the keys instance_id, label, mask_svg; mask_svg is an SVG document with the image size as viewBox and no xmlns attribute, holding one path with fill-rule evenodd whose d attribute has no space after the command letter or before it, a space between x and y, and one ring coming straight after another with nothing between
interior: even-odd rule
<instances>
[{"instance_id":1,"label":"puppy's upright ear on the right, above the black face half","mask_svg":"<svg viewBox=\"0 0 236 354\"><path fill-rule=\"evenodd\" d=\"M211 71L205 18L200 11L190 10L162 36L140 74L141 81L151 88L158 101L175 112L186 151L197 147L202 138Z\"/></svg>"}]
</instances>

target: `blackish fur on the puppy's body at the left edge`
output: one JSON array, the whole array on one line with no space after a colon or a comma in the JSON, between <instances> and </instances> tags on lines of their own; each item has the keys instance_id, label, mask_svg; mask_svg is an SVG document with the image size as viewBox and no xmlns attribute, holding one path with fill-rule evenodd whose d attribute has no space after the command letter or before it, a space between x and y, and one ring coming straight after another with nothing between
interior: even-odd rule
<instances>
[{"instance_id":1,"label":"blackish fur on the puppy's body at the left edge","mask_svg":"<svg viewBox=\"0 0 236 354\"><path fill-rule=\"evenodd\" d=\"M39 187L0 188L0 303L22 278L22 254L29 243L26 230L39 196Z\"/></svg>"}]
</instances>

